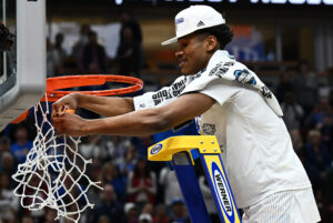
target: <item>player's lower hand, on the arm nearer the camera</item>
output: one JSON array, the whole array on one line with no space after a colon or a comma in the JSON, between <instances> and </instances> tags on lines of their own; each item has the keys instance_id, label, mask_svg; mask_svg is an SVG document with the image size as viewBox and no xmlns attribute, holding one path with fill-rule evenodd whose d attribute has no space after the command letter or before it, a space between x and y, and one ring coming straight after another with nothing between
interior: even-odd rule
<instances>
[{"instance_id":1,"label":"player's lower hand, on the arm nearer the camera","mask_svg":"<svg viewBox=\"0 0 333 223\"><path fill-rule=\"evenodd\" d=\"M87 135L87 120L77 114L63 112L52 116L53 126L58 135L83 136Z\"/></svg>"}]
</instances>

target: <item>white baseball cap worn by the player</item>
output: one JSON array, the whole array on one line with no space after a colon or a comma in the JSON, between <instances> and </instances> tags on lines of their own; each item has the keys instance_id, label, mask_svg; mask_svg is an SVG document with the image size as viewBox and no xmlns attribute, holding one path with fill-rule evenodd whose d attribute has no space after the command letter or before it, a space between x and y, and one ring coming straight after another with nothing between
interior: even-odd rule
<instances>
[{"instance_id":1,"label":"white baseball cap worn by the player","mask_svg":"<svg viewBox=\"0 0 333 223\"><path fill-rule=\"evenodd\" d=\"M196 30L224 24L222 14L209 6L191 6L180 11L175 18L175 37L162 42L162 45L174 43L179 38Z\"/></svg>"}]
</instances>

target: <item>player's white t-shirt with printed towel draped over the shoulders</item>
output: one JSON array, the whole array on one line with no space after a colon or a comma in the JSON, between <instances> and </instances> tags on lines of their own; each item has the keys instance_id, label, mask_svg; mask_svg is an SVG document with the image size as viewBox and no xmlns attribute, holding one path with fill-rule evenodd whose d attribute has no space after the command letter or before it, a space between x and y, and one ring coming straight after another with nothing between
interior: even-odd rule
<instances>
[{"instance_id":1,"label":"player's white t-shirt with printed towel draped over the shoulders","mask_svg":"<svg viewBox=\"0 0 333 223\"><path fill-rule=\"evenodd\" d=\"M248 83L232 81L231 77L240 72L250 73ZM253 88L255 83L260 88ZM239 207L279 191L311 186L275 97L244 64L230 59L226 51L216 51L204 71L180 77L169 88L134 98L134 108L161 107L189 92L200 92L216 101L198 118L198 123L203 134L218 138Z\"/></svg>"}]
</instances>

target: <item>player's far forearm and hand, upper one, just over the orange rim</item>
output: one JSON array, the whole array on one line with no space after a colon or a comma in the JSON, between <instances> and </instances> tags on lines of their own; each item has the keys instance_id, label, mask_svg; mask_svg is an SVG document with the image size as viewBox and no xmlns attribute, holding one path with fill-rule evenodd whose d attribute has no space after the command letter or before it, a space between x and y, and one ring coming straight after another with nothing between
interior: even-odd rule
<instances>
[{"instance_id":1,"label":"player's far forearm and hand, upper one, just over the orange rim","mask_svg":"<svg viewBox=\"0 0 333 223\"><path fill-rule=\"evenodd\" d=\"M132 98L95 97L82 93L68 94L52 104L52 115L65 109L83 108L103 116L115 116L134 110Z\"/></svg>"}]
</instances>

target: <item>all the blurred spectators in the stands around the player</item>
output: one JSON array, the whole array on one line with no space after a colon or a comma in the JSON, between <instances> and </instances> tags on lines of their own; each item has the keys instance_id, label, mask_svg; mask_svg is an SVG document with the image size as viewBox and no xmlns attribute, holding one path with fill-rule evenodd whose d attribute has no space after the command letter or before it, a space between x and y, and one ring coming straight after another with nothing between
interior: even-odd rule
<instances>
[{"instance_id":1,"label":"all the blurred spectators in the stands around the player","mask_svg":"<svg viewBox=\"0 0 333 223\"><path fill-rule=\"evenodd\" d=\"M140 24L125 12L120 21L120 44L113 62L119 73L138 77L143 67ZM69 57L82 73L108 73L110 60L104 47L98 43L98 33L89 24L81 27L80 40L73 45L71 55L62 49L63 38L63 33L58 33L54 44L48 40L48 77L64 73L63 63ZM161 87L154 84L155 89ZM297 70L286 70L272 87L284 112L294 150L312 182L323 223L333 222L333 90L323 93L321 89L332 85L329 79L313 72L309 62L301 61ZM87 111L79 112L97 118ZM32 148L33 122L31 116L0 133L0 223L57 222L54 210L23 210L13 195L17 183L11 175ZM163 162L147 160L147 148L154 143L152 136L82 138L79 152L93 161L87 174L92 181L100 181L104 190L89 190L88 196L95 206L83 213L80 223L190 222L174 173ZM199 183L209 213L219 222L204 176L199 176Z\"/></svg>"}]
</instances>

